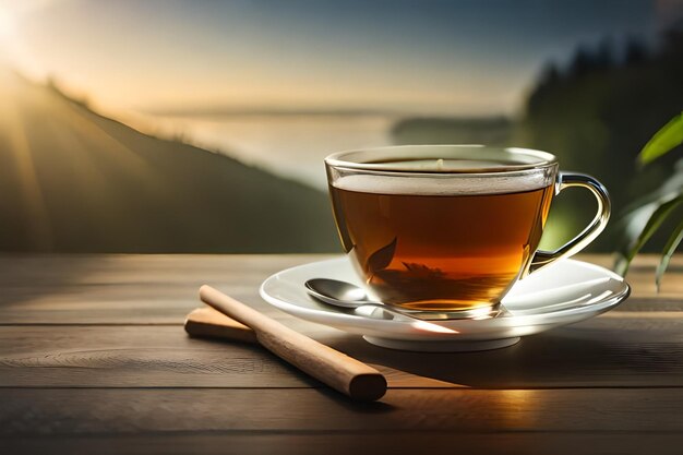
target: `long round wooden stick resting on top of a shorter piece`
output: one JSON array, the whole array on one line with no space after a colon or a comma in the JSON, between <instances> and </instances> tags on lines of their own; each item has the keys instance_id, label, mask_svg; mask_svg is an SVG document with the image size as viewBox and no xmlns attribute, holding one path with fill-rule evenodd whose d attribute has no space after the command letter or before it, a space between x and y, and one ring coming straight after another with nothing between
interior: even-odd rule
<instances>
[{"instance_id":1,"label":"long round wooden stick resting on top of a shorter piece","mask_svg":"<svg viewBox=\"0 0 683 455\"><path fill-rule=\"evenodd\" d=\"M209 286L200 288L200 298L251 327L259 343L271 352L352 399L372 402L386 393L386 379L374 368L295 332Z\"/></svg>"}]
</instances>

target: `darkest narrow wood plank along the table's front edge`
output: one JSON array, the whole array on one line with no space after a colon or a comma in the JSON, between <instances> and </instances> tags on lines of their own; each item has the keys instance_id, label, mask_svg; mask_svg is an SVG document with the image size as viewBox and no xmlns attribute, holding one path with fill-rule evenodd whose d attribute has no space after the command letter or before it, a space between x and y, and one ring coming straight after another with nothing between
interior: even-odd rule
<instances>
[{"instance_id":1,"label":"darkest narrow wood plank along the table's front edge","mask_svg":"<svg viewBox=\"0 0 683 455\"><path fill-rule=\"evenodd\" d=\"M0 440L7 453L173 455L298 455L385 454L421 455L680 455L681 433L501 433L383 431L320 434L304 432L163 433L117 436L33 436Z\"/></svg>"}]
</instances>

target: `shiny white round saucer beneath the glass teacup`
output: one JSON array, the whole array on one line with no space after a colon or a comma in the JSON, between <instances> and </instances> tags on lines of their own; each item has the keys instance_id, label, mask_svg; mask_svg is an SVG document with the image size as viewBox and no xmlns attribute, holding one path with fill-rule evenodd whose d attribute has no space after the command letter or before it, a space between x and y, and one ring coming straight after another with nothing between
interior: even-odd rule
<instances>
[{"instance_id":1,"label":"shiny white round saucer beneath the glass teacup","mask_svg":"<svg viewBox=\"0 0 683 455\"><path fill-rule=\"evenodd\" d=\"M369 343L418 351L470 351L512 346L525 335L573 324L611 310L631 288L603 267L561 260L532 273L503 299L507 311L495 318L430 321L452 331L430 331L409 319L360 315L321 303L303 287L310 278L334 278L362 286L346 256L287 268L261 285L261 296L274 307L307 321L363 335ZM352 311L352 310L351 310ZM384 313L382 310L379 310ZM391 318L391 316L390 316ZM439 328L439 327L436 327Z\"/></svg>"}]
</instances>

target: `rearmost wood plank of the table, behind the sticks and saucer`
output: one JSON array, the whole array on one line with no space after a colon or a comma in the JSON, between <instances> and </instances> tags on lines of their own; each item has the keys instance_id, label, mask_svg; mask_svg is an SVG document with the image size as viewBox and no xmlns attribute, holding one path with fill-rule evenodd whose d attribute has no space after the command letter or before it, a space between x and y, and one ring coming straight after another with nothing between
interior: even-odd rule
<instances>
[{"instance_id":1,"label":"rearmost wood plank of the table, behind the sticks and saucer","mask_svg":"<svg viewBox=\"0 0 683 455\"><path fill-rule=\"evenodd\" d=\"M181 324L209 284L276 318L259 285L271 274L327 255L0 255L0 325ZM579 256L609 265L607 255ZM662 292L655 292L656 255L638 256L634 290L616 311L683 311L683 254Z\"/></svg>"}]
</instances>

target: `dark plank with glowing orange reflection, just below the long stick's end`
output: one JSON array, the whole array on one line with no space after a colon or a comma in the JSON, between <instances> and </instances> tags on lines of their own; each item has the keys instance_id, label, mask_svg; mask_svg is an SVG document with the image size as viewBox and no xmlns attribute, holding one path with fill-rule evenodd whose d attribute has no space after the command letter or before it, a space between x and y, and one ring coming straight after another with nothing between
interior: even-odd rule
<instances>
[{"instance_id":1,"label":"dark plank with glowing orange reflection, just below the long stick's end","mask_svg":"<svg viewBox=\"0 0 683 455\"><path fill-rule=\"evenodd\" d=\"M0 435L379 431L683 433L683 393L393 390L355 404L312 390L4 388Z\"/></svg>"}]
</instances>

